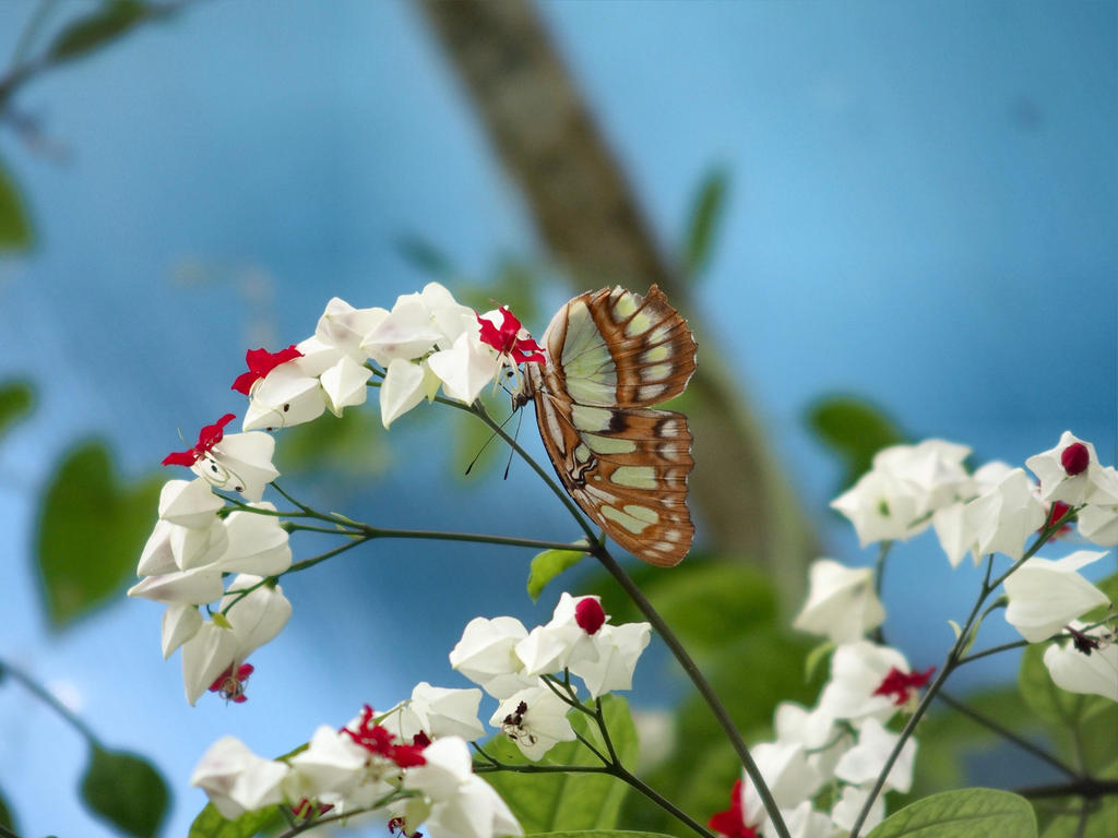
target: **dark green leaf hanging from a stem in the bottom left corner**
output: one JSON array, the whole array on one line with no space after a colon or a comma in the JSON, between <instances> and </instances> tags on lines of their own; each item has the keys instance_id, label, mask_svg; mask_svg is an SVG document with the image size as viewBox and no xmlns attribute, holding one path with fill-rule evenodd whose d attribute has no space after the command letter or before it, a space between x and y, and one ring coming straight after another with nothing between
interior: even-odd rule
<instances>
[{"instance_id":1,"label":"dark green leaf hanging from a stem in the bottom left corner","mask_svg":"<svg viewBox=\"0 0 1118 838\"><path fill-rule=\"evenodd\" d=\"M142 756L93 746L82 778L82 800L126 835L152 838L167 815L169 794L159 771Z\"/></svg>"}]
</instances>

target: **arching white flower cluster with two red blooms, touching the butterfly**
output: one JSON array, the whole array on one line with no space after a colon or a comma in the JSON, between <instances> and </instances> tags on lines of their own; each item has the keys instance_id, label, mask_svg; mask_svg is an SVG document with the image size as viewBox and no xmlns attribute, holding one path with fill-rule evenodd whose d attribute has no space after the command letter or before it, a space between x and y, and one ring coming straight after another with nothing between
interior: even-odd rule
<instances>
[{"instance_id":1,"label":"arching white flower cluster with two red blooms, touching the butterfly","mask_svg":"<svg viewBox=\"0 0 1118 838\"><path fill-rule=\"evenodd\" d=\"M326 409L341 416L364 402L370 361L382 371L387 428L439 388L470 404L505 366L540 363L543 355L508 310L479 315L438 283L401 295L390 311L354 308L334 297L311 337L281 353L248 353L249 370L234 382L249 397L244 429L299 425Z\"/></svg>"}]
</instances>

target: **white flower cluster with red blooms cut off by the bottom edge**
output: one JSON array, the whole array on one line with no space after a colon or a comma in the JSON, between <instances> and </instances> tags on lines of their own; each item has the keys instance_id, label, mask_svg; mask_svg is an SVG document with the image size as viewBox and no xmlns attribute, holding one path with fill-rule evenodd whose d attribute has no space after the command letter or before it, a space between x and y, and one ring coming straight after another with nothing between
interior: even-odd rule
<instances>
[{"instance_id":1,"label":"white flower cluster with red blooms cut off by the bottom edge","mask_svg":"<svg viewBox=\"0 0 1118 838\"><path fill-rule=\"evenodd\" d=\"M410 836L420 823L432 838L521 835L509 807L473 773L466 737L482 733L480 701L479 689L419 684L410 701L379 716L366 705L341 730L322 725L304 749L278 760L224 736L190 782L229 819L282 804L304 821L376 813Z\"/></svg>"}]
</instances>

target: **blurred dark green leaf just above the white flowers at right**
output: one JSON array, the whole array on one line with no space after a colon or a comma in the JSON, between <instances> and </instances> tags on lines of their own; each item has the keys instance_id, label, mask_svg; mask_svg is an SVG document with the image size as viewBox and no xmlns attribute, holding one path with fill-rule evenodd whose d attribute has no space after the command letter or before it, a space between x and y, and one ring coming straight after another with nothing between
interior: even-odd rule
<instances>
[{"instance_id":1,"label":"blurred dark green leaf just above the white flowers at right","mask_svg":"<svg viewBox=\"0 0 1118 838\"><path fill-rule=\"evenodd\" d=\"M843 488L870 470L873 455L904 441L885 412L856 396L826 396L807 408L807 427L842 460Z\"/></svg>"}]
</instances>

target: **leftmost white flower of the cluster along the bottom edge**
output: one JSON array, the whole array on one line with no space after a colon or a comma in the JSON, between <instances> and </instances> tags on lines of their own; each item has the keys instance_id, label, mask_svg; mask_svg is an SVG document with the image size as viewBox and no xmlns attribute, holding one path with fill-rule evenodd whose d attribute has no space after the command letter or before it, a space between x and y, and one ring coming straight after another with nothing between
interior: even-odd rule
<instances>
[{"instance_id":1,"label":"leftmost white flower of the cluster along the bottom edge","mask_svg":"<svg viewBox=\"0 0 1118 838\"><path fill-rule=\"evenodd\" d=\"M231 820L282 803L287 771L284 763L254 754L236 736L222 736L202 754L190 784L205 791L221 817Z\"/></svg>"}]
</instances>

